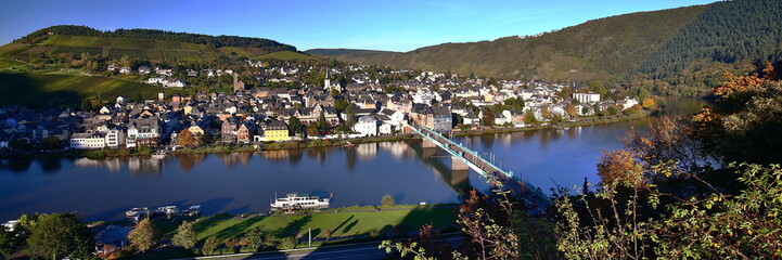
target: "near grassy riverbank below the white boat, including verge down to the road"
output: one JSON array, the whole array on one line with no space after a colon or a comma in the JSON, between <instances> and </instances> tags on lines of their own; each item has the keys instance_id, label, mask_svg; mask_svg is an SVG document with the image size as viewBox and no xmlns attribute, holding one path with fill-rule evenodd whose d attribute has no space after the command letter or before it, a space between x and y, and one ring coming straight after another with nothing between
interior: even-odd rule
<instances>
[{"instance_id":1,"label":"near grassy riverbank below the white boat, including verge down to the road","mask_svg":"<svg viewBox=\"0 0 782 260\"><path fill-rule=\"evenodd\" d=\"M216 237L220 247L214 255L275 251L308 247L311 231L312 247L360 242L380 242L416 234L422 225L431 224L435 232L458 231L458 205L397 205L393 207L345 207L298 213L215 214L201 219L158 220L163 245L157 250L123 257L130 259L170 259L203 256L200 248L207 238ZM182 220L191 221L196 232L196 248L185 250L168 245ZM264 246L246 247L242 238L247 231L260 229Z\"/></svg>"}]
</instances>

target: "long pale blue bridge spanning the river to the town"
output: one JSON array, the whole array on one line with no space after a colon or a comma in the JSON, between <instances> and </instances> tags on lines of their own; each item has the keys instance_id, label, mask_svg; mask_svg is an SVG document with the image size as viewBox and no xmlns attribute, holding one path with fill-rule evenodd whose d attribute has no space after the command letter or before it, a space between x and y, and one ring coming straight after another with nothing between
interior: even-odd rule
<instances>
[{"instance_id":1,"label":"long pale blue bridge spanning the river to the town","mask_svg":"<svg viewBox=\"0 0 782 260\"><path fill-rule=\"evenodd\" d=\"M451 155L452 170L474 170L484 178L496 178L512 191L523 192L525 198L538 210L544 210L553 205L553 202L540 188L520 180L513 171L507 171L495 165L490 159L485 158L475 151L472 151L461 143L456 143L439 132L433 131L424 126L411 122L406 127L423 138L423 147L439 147Z\"/></svg>"}]
</instances>

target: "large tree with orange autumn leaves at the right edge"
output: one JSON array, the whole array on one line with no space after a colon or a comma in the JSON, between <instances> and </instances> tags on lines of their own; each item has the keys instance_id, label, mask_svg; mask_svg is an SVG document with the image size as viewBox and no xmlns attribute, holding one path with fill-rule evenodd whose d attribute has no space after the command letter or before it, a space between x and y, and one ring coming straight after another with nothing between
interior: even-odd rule
<instances>
[{"instance_id":1,"label":"large tree with orange autumn leaves at the right edge","mask_svg":"<svg viewBox=\"0 0 782 260\"><path fill-rule=\"evenodd\" d=\"M759 68L761 69L761 68ZM693 136L725 161L782 161L782 80L771 65L749 76L726 74L714 107L693 116Z\"/></svg>"}]
</instances>

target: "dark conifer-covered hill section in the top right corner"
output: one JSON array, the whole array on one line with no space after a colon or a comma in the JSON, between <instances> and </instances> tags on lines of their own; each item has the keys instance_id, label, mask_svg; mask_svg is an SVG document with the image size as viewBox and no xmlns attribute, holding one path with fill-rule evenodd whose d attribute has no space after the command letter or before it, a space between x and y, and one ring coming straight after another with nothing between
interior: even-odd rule
<instances>
[{"instance_id":1,"label":"dark conifer-covered hill section in the top right corner","mask_svg":"<svg viewBox=\"0 0 782 260\"><path fill-rule=\"evenodd\" d=\"M715 3L661 48L642 73L665 78L696 60L720 63L782 60L782 1Z\"/></svg>"}]
</instances>

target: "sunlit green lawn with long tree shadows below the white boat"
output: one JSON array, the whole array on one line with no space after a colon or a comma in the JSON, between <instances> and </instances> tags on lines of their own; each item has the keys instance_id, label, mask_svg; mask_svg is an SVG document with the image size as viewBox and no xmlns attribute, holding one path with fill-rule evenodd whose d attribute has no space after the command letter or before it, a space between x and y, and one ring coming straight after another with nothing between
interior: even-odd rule
<instances>
[{"instance_id":1,"label":"sunlit green lawn with long tree shadows below the white boat","mask_svg":"<svg viewBox=\"0 0 782 260\"><path fill-rule=\"evenodd\" d=\"M267 234L283 238L304 235L312 229L313 237L322 237L326 230L332 237L346 237L394 232L416 231L423 224L432 224L435 229L445 229L456 224L454 208L416 208L416 209L383 209L375 212L328 212L311 214L287 214L272 217L251 217L245 219L211 217L194 223L198 240L209 236L221 240L241 237L245 231L259 226ZM172 235L176 224L162 223L162 231Z\"/></svg>"}]
</instances>

